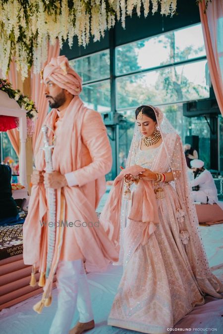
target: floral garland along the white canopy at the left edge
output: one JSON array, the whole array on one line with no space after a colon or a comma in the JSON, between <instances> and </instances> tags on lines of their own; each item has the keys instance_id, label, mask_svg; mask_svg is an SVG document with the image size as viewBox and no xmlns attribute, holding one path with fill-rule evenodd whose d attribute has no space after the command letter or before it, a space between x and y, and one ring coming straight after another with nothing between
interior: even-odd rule
<instances>
[{"instance_id":1,"label":"floral garland along the white canopy at the left edge","mask_svg":"<svg viewBox=\"0 0 223 334\"><path fill-rule=\"evenodd\" d=\"M14 90L10 82L5 79L0 79L0 91L7 93L10 98L14 98L19 104L20 108L26 110L26 116L31 118L37 117L37 109L35 103L29 99L28 96L23 95L19 90Z\"/></svg>"}]
</instances>

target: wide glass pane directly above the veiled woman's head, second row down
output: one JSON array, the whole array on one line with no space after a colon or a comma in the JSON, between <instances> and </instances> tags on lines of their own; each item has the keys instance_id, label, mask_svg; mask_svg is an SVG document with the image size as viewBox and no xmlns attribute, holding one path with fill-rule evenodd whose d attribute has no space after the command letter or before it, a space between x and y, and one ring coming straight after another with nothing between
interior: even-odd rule
<instances>
[{"instance_id":1,"label":"wide glass pane directly above the veiled woman's head, second row down","mask_svg":"<svg viewBox=\"0 0 223 334\"><path fill-rule=\"evenodd\" d=\"M206 63L202 60L117 78L117 109L209 97Z\"/></svg>"}]
</instances>

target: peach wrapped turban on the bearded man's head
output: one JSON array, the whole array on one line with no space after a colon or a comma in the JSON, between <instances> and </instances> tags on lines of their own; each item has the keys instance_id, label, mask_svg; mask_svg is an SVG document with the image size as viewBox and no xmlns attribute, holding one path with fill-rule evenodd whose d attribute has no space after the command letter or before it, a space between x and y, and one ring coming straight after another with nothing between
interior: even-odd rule
<instances>
[{"instance_id":1,"label":"peach wrapped turban on the bearded man's head","mask_svg":"<svg viewBox=\"0 0 223 334\"><path fill-rule=\"evenodd\" d=\"M68 59L62 55L52 58L44 68L43 80L53 81L57 86L67 90L72 95L79 95L82 90L80 76L70 67Z\"/></svg>"}]
</instances>

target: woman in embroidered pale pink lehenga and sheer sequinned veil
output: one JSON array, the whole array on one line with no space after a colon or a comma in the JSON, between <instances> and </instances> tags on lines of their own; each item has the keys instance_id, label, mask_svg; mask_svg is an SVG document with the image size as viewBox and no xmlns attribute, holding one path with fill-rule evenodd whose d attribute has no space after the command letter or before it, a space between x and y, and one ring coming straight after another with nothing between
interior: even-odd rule
<instances>
[{"instance_id":1,"label":"woman in embroidered pale pink lehenga and sheer sequinned veil","mask_svg":"<svg viewBox=\"0 0 223 334\"><path fill-rule=\"evenodd\" d=\"M114 180L100 222L123 275L108 324L164 334L205 294L222 298L198 231L181 140L157 107L142 105L126 168Z\"/></svg>"}]
</instances>

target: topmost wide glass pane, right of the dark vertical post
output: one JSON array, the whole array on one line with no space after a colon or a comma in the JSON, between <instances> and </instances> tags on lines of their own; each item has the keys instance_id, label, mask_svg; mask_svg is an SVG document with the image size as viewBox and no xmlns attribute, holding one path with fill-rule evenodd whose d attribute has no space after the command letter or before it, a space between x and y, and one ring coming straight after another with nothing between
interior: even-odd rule
<instances>
[{"instance_id":1,"label":"topmost wide glass pane, right of the dark vertical post","mask_svg":"<svg viewBox=\"0 0 223 334\"><path fill-rule=\"evenodd\" d=\"M205 56L201 24L122 45L115 54L116 75Z\"/></svg>"}]
</instances>

